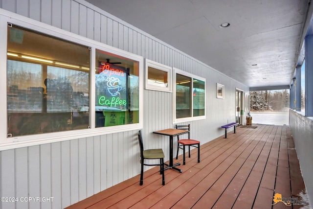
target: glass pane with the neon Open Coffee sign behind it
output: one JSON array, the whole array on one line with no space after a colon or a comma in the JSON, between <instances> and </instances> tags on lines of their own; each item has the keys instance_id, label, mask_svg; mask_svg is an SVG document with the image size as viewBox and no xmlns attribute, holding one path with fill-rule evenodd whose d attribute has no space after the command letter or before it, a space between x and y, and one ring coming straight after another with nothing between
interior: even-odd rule
<instances>
[{"instance_id":1,"label":"glass pane with the neon Open Coffee sign behind it","mask_svg":"<svg viewBox=\"0 0 313 209\"><path fill-rule=\"evenodd\" d=\"M139 123L139 62L96 50L96 127Z\"/></svg>"}]
</instances>

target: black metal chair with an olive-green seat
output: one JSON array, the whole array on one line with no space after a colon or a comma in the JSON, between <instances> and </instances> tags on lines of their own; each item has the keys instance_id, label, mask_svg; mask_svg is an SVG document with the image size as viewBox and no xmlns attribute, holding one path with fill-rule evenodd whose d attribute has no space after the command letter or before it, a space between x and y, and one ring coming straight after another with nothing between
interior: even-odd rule
<instances>
[{"instance_id":1,"label":"black metal chair with an olive-green seat","mask_svg":"<svg viewBox=\"0 0 313 209\"><path fill-rule=\"evenodd\" d=\"M165 185L164 181L164 153L162 149L143 149L143 142L142 142L142 134L139 130L138 132L138 140L139 140L139 146L140 146L140 164L141 164L141 172L140 172L140 185L143 184L143 166L160 166L160 174L162 174L162 185ZM159 159L159 164L146 164L144 163L145 159L153 160L153 159Z\"/></svg>"}]
</instances>

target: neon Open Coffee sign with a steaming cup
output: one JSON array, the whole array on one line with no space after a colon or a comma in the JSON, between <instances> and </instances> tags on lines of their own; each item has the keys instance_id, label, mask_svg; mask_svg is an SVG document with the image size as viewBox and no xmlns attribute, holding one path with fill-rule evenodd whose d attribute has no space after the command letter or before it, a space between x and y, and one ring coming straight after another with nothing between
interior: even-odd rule
<instances>
[{"instance_id":1,"label":"neon Open Coffee sign with a steaming cup","mask_svg":"<svg viewBox=\"0 0 313 209\"><path fill-rule=\"evenodd\" d=\"M112 65L110 63L99 63L99 74L106 75L106 89L110 94L109 96L100 96L98 103L100 105L107 105L109 107L120 107L127 105L127 100L121 98L122 85L126 86L126 75L125 68ZM126 95L124 96L126 97Z\"/></svg>"}]
</instances>

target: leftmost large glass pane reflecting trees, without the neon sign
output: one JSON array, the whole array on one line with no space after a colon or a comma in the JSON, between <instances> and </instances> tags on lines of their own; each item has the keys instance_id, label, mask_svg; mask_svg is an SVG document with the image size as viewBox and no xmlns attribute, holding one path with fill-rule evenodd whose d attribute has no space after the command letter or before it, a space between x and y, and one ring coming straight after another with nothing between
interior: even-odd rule
<instances>
[{"instance_id":1,"label":"leftmost large glass pane reflecting trees, without the neon sign","mask_svg":"<svg viewBox=\"0 0 313 209\"><path fill-rule=\"evenodd\" d=\"M90 47L7 27L7 137L89 128Z\"/></svg>"}]
</instances>

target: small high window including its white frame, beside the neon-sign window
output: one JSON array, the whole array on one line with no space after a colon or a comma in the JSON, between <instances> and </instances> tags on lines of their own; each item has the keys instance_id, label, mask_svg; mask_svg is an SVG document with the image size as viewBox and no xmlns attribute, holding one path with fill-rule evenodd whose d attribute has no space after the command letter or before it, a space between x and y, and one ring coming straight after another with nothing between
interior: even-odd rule
<instances>
[{"instance_id":1,"label":"small high window including its white frame, beside the neon-sign window","mask_svg":"<svg viewBox=\"0 0 313 209\"><path fill-rule=\"evenodd\" d=\"M172 92L172 68L146 59L146 89Z\"/></svg>"}]
</instances>

